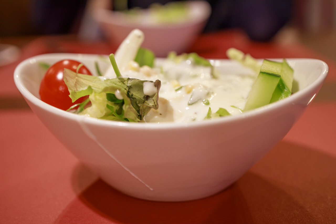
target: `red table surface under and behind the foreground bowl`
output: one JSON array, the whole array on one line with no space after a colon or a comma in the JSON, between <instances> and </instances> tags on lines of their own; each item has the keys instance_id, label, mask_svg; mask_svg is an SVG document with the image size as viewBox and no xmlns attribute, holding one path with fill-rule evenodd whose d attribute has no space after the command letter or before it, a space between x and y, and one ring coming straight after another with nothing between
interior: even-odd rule
<instances>
[{"instance_id":1,"label":"red table surface under and behind the foreground bowl","mask_svg":"<svg viewBox=\"0 0 336 224\"><path fill-rule=\"evenodd\" d=\"M226 58L318 58L329 75L287 136L235 184L209 198L152 202L98 179L43 126L13 82L15 66L50 52L109 54L116 47L41 37L0 67L0 223L336 223L336 65L298 43L255 43L239 32L199 37L190 51Z\"/></svg>"}]
</instances>

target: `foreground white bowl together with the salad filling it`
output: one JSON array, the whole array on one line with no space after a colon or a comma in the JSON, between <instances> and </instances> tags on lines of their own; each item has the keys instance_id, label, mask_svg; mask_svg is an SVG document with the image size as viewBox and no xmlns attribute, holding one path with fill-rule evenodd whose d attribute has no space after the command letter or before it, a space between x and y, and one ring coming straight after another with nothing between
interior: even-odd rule
<instances>
[{"instance_id":1,"label":"foreground white bowl together with the salad filling it","mask_svg":"<svg viewBox=\"0 0 336 224\"><path fill-rule=\"evenodd\" d=\"M256 60L236 49L231 60L153 58L142 40L134 30L110 56L38 55L17 66L14 81L82 163L146 200L194 200L227 188L282 140L328 73L320 60ZM58 83L72 102L82 99L68 111L41 100L59 76L47 77L49 69L65 59L82 63L74 71L64 63ZM91 73L81 74L83 66Z\"/></svg>"}]
</instances>

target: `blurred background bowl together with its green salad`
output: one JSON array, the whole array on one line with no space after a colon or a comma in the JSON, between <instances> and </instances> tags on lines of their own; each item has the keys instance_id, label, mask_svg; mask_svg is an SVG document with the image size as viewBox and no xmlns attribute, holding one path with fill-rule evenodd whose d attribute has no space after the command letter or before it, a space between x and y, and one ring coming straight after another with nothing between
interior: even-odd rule
<instances>
[{"instance_id":1,"label":"blurred background bowl together with its green salad","mask_svg":"<svg viewBox=\"0 0 336 224\"><path fill-rule=\"evenodd\" d=\"M112 11L96 3L93 19L113 44L119 45L135 28L145 34L143 47L157 57L166 57L169 51L183 53L199 35L211 14L206 1L171 2L149 9ZM173 15L173 16L172 16Z\"/></svg>"}]
</instances>

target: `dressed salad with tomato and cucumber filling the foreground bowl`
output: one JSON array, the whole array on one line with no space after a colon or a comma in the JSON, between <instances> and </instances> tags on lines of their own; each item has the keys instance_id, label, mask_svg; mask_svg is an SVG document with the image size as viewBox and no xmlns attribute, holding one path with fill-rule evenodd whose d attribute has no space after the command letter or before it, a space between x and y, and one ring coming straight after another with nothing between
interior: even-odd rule
<instances>
[{"instance_id":1,"label":"dressed salad with tomato and cucumber filling the foreground bowl","mask_svg":"<svg viewBox=\"0 0 336 224\"><path fill-rule=\"evenodd\" d=\"M156 59L141 48L135 29L109 56L109 67L96 75L80 62L50 66L40 85L41 100L84 116L131 122L189 122L241 114L291 95L293 69L282 62L260 63L230 48L228 58L250 69L221 75L196 53Z\"/></svg>"}]
</instances>

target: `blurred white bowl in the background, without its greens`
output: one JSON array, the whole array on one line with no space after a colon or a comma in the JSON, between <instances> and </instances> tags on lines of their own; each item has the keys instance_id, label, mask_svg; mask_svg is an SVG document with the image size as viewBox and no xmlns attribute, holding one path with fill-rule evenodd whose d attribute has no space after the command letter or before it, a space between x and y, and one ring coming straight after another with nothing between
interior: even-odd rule
<instances>
[{"instance_id":1,"label":"blurred white bowl in the background, without its greens","mask_svg":"<svg viewBox=\"0 0 336 224\"><path fill-rule=\"evenodd\" d=\"M211 7L206 1L187 1L187 5L191 19L172 25L129 22L123 14L103 7L94 10L93 19L113 44L119 46L133 29L139 29L145 36L142 47L151 49L157 57L166 57L169 51L185 52L211 14Z\"/></svg>"}]
</instances>

